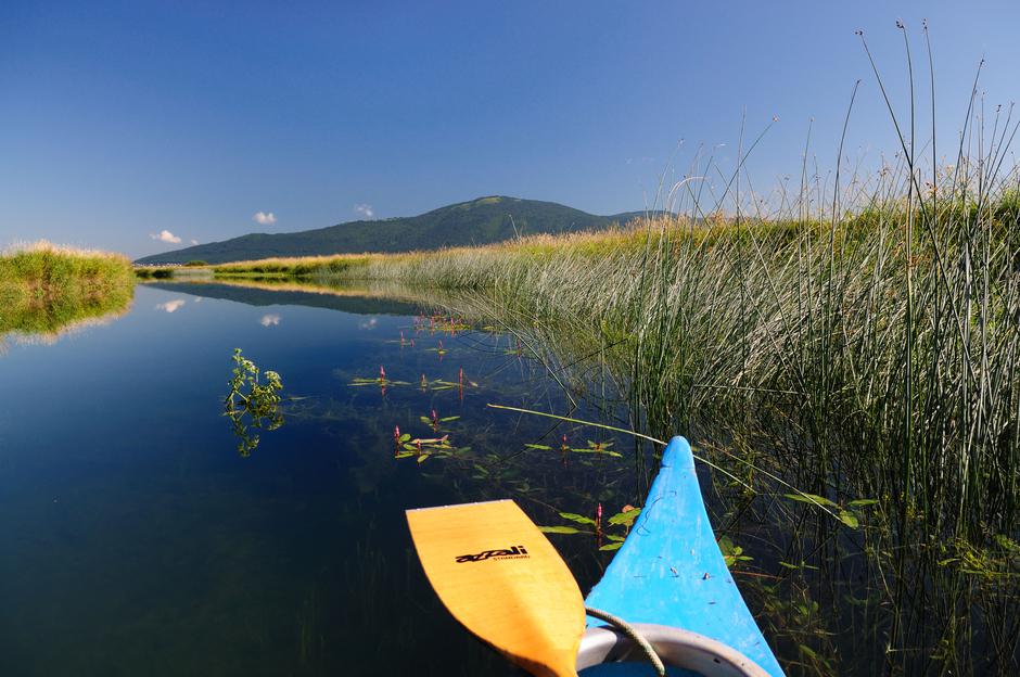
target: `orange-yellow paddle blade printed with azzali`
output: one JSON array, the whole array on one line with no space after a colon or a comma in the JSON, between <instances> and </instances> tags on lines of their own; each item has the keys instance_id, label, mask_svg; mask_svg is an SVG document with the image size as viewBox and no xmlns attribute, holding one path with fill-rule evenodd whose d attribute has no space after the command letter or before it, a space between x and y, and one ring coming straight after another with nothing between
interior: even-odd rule
<instances>
[{"instance_id":1,"label":"orange-yellow paddle blade printed with azzali","mask_svg":"<svg viewBox=\"0 0 1020 677\"><path fill-rule=\"evenodd\" d=\"M415 548L466 628L539 677L576 677L584 598L545 534L512 500L408 510Z\"/></svg>"}]
</instances>

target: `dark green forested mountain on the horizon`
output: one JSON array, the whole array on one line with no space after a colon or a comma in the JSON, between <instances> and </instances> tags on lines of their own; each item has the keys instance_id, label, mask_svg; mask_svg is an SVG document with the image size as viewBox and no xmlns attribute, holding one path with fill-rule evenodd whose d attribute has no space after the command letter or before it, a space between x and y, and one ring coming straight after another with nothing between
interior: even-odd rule
<instances>
[{"instance_id":1,"label":"dark green forested mountain on the horizon","mask_svg":"<svg viewBox=\"0 0 1020 677\"><path fill-rule=\"evenodd\" d=\"M642 215L626 212L597 216L554 202L493 195L461 202L419 216L349 221L290 233L251 233L222 242L139 258L136 264L222 264L271 256L316 256L361 252L409 252L488 244L515 233L562 233L605 228Z\"/></svg>"}]
</instances>

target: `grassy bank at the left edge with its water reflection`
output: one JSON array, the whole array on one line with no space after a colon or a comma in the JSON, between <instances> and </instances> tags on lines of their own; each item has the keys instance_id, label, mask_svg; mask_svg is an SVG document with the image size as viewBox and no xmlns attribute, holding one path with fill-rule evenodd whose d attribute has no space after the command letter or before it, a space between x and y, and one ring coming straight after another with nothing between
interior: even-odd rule
<instances>
[{"instance_id":1,"label":"grassy bank at the left edge with its water reflection","mask_svg":"<svg viewBox=\"0 0 1020 677\"><path fill-rule=\"evenodd\" d=\"M0 253L0 334L55 335L125 311L135 274L127 257L38 242Z\"/></svg>"}]
</instances>

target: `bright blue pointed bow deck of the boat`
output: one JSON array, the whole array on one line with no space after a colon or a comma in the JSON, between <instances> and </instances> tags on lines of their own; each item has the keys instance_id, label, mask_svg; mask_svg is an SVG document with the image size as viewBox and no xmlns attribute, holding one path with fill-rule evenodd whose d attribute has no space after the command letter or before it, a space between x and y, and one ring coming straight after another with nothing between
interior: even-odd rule
<instances>
[{"instance_id":1,"label":"bright blue pointed bow deck of the boat","mask_svg":"<svg viewBox=\"0 0 1020 677\"><path fill-rule=\"evenodd\" d=\"M773 677L783 675L719 552L694 458L683 437L674 437L663 452L641 514L585 603L628 623L704 635L732 647ZM600 625L605 624L588 617L589 627ZM584 675L626 675L628 667L597 666ZM649 674L648 665L634 669Z\"/></svg>"}]
</instances>

